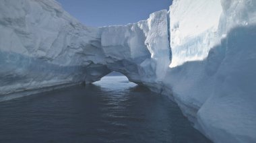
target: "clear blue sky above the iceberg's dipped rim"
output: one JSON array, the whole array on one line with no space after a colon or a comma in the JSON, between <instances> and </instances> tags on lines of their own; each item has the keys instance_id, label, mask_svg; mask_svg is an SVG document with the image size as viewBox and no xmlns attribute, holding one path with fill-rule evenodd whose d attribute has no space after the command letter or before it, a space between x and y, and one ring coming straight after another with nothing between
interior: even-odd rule
<instances>
[{"instance_id":1,"label":"clear blue sky above the iceberg's dipped rim","mask_svg":"<svg viewBox=\"0 0 256 143\"><path fill-rule=\"evenodd\" d=\"M168 9L172 0L57 0L86 26L113 26L148 19L150 13Z\"/></svg>"}]
</instances>

